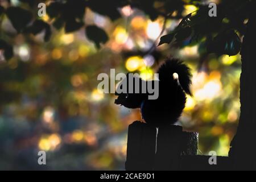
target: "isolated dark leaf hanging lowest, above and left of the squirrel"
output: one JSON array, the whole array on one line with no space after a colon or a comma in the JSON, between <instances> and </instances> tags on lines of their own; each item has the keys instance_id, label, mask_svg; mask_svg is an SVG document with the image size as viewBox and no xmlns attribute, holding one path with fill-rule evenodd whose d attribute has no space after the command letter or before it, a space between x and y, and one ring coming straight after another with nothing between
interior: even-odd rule
<instances>
[{"instance_id":1,"label":"isolated dark leaf hanging lowest, above and left of the squirrel","mask_svg":"<svg viewBox=\"0 0 256 182\"><path fill-rule=\"evenodd\" d=\"M109 40L106 32L97 26L86 27L86 36L96 44L97 48L100 48L100 43L106 43Z\"/></svg>"}]
</instances>

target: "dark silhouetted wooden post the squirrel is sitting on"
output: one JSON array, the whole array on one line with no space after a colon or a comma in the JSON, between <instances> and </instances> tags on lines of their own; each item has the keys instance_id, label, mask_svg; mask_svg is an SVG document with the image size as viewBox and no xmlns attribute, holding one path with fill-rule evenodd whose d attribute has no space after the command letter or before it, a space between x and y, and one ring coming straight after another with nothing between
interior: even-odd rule
<instances>
[{"instance_id":1,"label":"dark silhouetted wooden post the squirrel is sitting on","mask_svg":"<svg viewBox=\"0 0 256 182\"><path fill-rule=\"evenodd\" d=\"M197 154L197 133L181 126L155 127L135 121L129 126L126 170L180 169L182 155Z\"/></svg>"}]
</instances>

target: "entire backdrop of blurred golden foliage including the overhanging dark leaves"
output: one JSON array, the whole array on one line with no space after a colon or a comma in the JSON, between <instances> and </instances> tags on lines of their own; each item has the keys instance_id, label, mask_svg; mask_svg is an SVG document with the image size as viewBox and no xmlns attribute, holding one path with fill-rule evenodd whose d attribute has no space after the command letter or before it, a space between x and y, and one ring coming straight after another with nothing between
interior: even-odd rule
<instances>
[{"instance_id":1,"label":"entire backdrop of blurred golden foliage including the overhanging dark leaves","mask_svg":"<svg viewBox=\"0 0 256 182\"><path fill-rule=\"evenodd\" d=\"M154 73L170 55L193 71L179 122L199 131L199 154L228 155L250 1L214 2L210 18L208 1L1 1L0 169L124 169L127 126L141 115L98 91L97 75Z\"/></svg>"}]
</instances>

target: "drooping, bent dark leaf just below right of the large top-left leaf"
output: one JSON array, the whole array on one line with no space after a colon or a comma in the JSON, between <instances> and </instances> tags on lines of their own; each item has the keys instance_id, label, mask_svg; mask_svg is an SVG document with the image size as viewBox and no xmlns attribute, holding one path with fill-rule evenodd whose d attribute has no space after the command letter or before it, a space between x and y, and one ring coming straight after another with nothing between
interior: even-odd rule
<instances>
[{"instance_id":1,"label":"drooping, bent dark leaf just below right of the large top-left leaf","mask_svg":"<svg viewBox=\"0 0 256 182\"><path fill-rule=\"evenodd\" d=\"M51 37L51 27L48 23L44 22L43 20L35 20L35 22L31 26L24 29L24 32L36 35L42 32L43 30L45 31L44 41L47 42Z\"/></svg>"}]
</instances>

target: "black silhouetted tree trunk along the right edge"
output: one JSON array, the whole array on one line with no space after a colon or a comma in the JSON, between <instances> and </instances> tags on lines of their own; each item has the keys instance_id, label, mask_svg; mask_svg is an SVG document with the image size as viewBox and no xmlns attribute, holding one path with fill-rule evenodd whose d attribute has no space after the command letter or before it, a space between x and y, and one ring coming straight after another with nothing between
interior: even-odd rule
<instances>
[{"instance_id":1,"label":"black silhouetted tree trunk along the right edge","mask_svg":"<svg viewBox=\"0 0 256 182\"><path fill-rule=\"evenodd\" d=\"M234 169L256 169L256 3L252 3L250 18L243 38L240 77L241 115L230 146L229 156Z\"/></svg>"}]
</instances>

